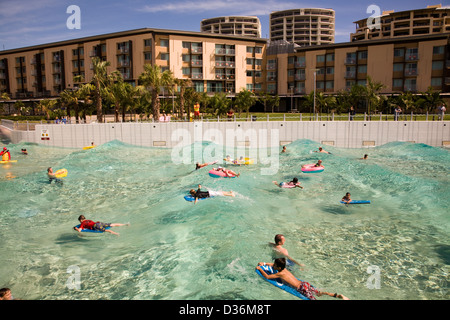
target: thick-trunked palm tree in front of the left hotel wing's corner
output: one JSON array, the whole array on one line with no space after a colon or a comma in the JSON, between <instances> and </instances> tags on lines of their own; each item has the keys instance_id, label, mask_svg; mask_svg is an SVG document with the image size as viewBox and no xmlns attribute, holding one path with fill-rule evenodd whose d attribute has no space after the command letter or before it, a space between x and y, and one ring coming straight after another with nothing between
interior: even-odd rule
<instances>
[{"instance_id":1,"label":"thick-trunked palm tree in front of the left hotel wing's corner","mask_svg":"<svg viewBox=\"0 0 450 320\"><path fill-rule=\"evenodd\" d=\"M157 65L144 65L144 72L139 76L139 82L151 92L152 96L152 115L154 121L159 121L159 93L164 87L171 87L174 83L174 77L170 70L161 72Z\"/></svg>"}]
</instances>

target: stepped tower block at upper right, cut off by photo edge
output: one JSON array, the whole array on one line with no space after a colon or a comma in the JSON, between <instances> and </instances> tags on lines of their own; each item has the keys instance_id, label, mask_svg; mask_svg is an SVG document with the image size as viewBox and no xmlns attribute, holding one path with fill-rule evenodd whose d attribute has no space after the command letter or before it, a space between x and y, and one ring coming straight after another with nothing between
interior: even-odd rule
<instances>
[{"instance_id":1,"label":"stepped tower block at upper right, cut off by photo edge","mask_svg":"<svg viewBox=\"0 0 450 320\"><path fill-rule=\"evenodd\" d=\"M369 23L368 23L369 21ZM401 12L384 11L370 20L355 22L350 41L401 38L450 32L450 8L441 5Z\"/></svg>"}]
</instances>

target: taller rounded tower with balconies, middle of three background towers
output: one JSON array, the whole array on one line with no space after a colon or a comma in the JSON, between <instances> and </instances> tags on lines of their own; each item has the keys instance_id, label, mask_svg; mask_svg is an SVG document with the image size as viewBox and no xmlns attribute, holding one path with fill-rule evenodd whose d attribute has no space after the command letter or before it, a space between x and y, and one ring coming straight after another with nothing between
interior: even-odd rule
<instances>
[{"instance_id":1,"label":"taller rounded tower with balconies, middle of three background towers","mask_svg":"<svg viewBox=\"0 0 450 320\"><path fill-rule=\"evenodd\" d=\"M334 43L334 10L291 9L270 14L270 41L285 40L299 46Z\"/></svg>"}]
</instances>

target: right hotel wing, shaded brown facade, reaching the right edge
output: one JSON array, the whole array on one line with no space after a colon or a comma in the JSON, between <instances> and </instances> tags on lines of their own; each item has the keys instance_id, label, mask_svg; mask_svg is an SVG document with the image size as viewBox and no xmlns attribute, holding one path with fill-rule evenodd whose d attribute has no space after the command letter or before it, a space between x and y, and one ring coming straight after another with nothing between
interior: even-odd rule
<instances>
[{"instance_id":1,"label":"right hotel wing, shaded brown facade, reaching the right edge","mask_svg":"<svg viewBox=\"0 0 450 320\"><path fill-rule=\"evenodd\" d=\"M370 76L384 84L383 94L424 92L431 86L450 97L449 38L450 33L441 33L302 47L284 53L269 47L266 88L298 102L301 99L297 98L314 89L336 94L354 84L365 85ZM290 99L285 100L289 104Z\"/></svg>"}]
</instances>

